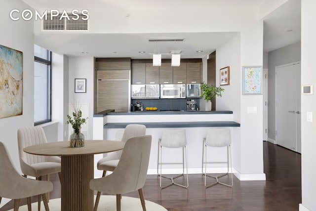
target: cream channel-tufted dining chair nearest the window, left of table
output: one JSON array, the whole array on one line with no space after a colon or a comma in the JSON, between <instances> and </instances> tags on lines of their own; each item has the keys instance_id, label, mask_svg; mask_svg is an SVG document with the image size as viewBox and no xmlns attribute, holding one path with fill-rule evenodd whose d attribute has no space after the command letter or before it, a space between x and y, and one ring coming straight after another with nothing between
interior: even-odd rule
<instances>
[{"instance_id":1,"label":"cream channel-tufted dining chair nearest the window, left of table","mask_svg":"<svg viewBox=\"0 0 316 211\"><path fill-rule=\"evenodd\" d=\"M20 167L24 177L33 176L41 180L42 176L46 176L49 181L49 174L58 173L61 178L61 159L57 156L40 156L25 153L25 147L47 143L44 129L42 127L21 127L18 129L18 149ZM47 193L49 201L49 193ZM40 207L40 196L39 196Z\"/></svg>"}]
</instances>

